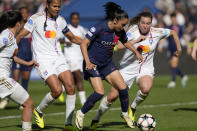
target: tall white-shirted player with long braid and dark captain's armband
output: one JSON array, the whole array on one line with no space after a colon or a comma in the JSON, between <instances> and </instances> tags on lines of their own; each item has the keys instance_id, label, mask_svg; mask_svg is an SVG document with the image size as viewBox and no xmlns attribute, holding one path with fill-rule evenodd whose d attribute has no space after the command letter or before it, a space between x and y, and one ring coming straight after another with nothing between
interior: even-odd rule
<instances>
[{"instance_id":1,"label":"tall white-shirted player with long braid and dark captain's armband","mask_svg":"<svg viewBox=\"0 0 197 131\"><path fill-rule=\"evenodd\" d=\"M62 33L73 43L80 44L81 39L74 36L68 29L65 19L58 16L61 0L46 2L45 10L32 15L16 38L19 41L30 32L32 33L33 59L39 63L37 71L51 90L34 110L37 125L44 128L42 111L62 93L62 82L67 93L65 124L66 127L70 127L76 99L74 81L57 41Z\"/></svg>"}]
</instances>

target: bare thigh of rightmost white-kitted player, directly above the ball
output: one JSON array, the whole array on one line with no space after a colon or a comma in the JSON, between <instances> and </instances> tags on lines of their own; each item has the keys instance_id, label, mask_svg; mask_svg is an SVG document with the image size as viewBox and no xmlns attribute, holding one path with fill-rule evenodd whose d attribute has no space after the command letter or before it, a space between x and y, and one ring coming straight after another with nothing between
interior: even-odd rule
<instances>
[{"instance_id":1,"label":"bare thigh of rightmost white-kitted player, directly above the ball","mask_svg":"<svg viewBox=\"0 0 197 131\"><path fill-rule=\"evenodd\" d=\"M142 91L142 93L144 94L148 94L152 88L153 85L153 77L150 75L144 75L141 76L138 80L137 80L139 87Z\"/></svg>"}]
</instances>

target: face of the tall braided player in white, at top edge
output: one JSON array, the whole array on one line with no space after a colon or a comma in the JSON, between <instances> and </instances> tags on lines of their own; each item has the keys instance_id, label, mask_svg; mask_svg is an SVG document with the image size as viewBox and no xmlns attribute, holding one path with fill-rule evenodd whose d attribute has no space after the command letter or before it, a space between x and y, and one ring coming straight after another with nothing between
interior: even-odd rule
<instances>
[{"instance_id":1,"label":"face of the tall braided player in white, at top edge","mask_svg":"<svg viewBox=\"0 0 197 131\"><path fill-rule=\"evenodd\" d=\"M57 17L61 9L61 0L52 0L52 2L47 5L50 17Z\"/></svg>"}]
</instances>

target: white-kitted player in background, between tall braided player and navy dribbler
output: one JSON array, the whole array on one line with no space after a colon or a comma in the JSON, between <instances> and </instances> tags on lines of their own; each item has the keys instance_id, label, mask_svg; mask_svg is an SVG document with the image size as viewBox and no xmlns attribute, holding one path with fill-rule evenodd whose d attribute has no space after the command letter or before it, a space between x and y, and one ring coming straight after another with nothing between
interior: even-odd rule
<instances>
[{"instance_id":1,"label":"white-kitted player in background, between tall braided player and navy dribbler","mask_svg":"<svg viewBox=\"0 0 197 131\"><path fill-rule=\"evenodd\" d=\"M79 25L80 15L78 12L73 12L70 15L70 22L68 24L69 30L77 37L84 38L87 31ZM86 101L85 91L83 89L83 77L82 77L82 64L83 64L83 55L79 45L71 43L66 39L64 46L64 55L69 63L71 72L75 78L76 87L78 90L79 98L81 105Z\"/></svg>"}]
</instances>

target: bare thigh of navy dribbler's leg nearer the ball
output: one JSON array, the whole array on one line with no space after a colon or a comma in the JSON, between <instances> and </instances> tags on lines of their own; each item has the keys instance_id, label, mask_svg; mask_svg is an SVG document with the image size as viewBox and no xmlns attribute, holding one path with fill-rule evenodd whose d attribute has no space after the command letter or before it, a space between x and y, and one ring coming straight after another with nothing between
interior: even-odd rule
<instances>
[{"instance_id":1,"label":"bare thigh of navy dribbler's leg nearer the ball","mask_svg":"<svg viewBox=\"0 0 197 131\"><path fill-rule=\"evenodd\" d=\"M105 77L105 79L115 88L123 90L126 88L124 79L118 70L113 71Z\"/></svg>"}]
</instances>

